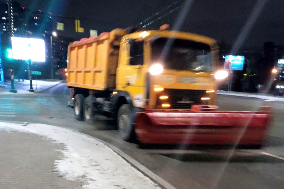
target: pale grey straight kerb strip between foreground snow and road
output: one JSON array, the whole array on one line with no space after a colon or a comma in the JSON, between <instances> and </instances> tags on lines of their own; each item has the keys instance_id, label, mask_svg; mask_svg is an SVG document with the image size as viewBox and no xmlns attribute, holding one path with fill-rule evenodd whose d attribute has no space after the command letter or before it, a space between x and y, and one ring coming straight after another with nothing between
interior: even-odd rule
<instances>
[{"instance_id":1,"label":"pale grey straight kerb strip between foreground snow and road","mask_svg":"<svg viewBox=\"0 0 284 189\"><path fill-rule=\"evenodd\" d=\"M96 138L97 139L97 138ZM165 181L164 179L162 179L161 177L159 177L157 174L155 174L154 172L150 171L148 168L146 168L145 166L143 166L142 164L140 164L138 161L136 161L135 159L133 159L132 157L128 156L126 153L124 153L122 150L119 150L117 147L109 144L108 142L105 142L103 140L97 139L100 142L104 143L105 145L107 145L109 148L111 148L112 150L114 150L114 152L116 152L119 156L121 156L122 158L124 158L126 161L128 161L130 164L132 164L133 166L135 166L137 169L139 169L141 172L143 172L144 174L148 175L148 177L150 177L151 179L153 179L155 182L159 183L160 185L162 185L164 188L166 189L177 189L175 188L173 185L171 185L170 183L168 183L167 181Z\"/></svg>"}]
</instances>

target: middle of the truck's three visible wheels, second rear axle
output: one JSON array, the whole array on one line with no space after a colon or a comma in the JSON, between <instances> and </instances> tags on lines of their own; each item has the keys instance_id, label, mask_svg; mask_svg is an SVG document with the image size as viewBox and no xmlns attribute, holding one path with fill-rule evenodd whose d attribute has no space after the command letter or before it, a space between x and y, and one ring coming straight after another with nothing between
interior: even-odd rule
<instances>
[{"instance_id":1,"label":"middle of the truck's three visible wheels, second rear axle","mask_svg":"<svg viewBox=\"0 0 284 189\"><path fill-rule=\"evenodd\" d=\"M97 108L93 103L94 97L88 96L84 101L84 119L88 124L93 124Z\"/></svg>"}]
</instances>

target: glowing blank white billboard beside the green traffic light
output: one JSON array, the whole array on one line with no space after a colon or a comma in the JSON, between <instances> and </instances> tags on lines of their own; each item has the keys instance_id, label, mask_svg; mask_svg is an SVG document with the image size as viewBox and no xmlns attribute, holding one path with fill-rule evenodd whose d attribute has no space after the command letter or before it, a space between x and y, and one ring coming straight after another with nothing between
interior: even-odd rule
<instances>
[{"instance_id":1,"label":"glowing blank white billboard beside the green traffic light","mask_svg":"<svg viewBox=\"0 0 284 189\"><path fill-rule=\"evenodd\" d=\"M11 37L12 57L15 60L45 62L45 43L43 39Z\"/></svg>"}]
</instances>

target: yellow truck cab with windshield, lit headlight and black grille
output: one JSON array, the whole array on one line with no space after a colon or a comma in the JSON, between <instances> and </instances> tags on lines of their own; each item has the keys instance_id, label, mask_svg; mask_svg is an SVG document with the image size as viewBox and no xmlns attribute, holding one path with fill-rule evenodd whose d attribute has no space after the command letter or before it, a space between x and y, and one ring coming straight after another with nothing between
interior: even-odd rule
<instances>
[{"instance_id":1,"label":"yellow truck cab with windshield, lit headlight and black grille","mask_svg":"<svg viewBox=\"0 0 284 189\"><path fill-rule=\"evenodd\" d=\"M190 110L214 105L216 41L178 31L140 31L123 36L116 89L134 107Z\"/></svg>"}]
</instances>

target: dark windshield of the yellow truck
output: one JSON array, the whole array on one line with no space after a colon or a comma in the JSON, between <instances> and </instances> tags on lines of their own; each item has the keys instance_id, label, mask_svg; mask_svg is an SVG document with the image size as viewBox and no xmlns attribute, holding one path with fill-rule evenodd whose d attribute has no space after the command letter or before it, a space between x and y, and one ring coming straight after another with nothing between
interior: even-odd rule
<instances>
[{"instance_id":1,"label":"dark windshield of the yellow truck","mask_svg":"<svg viewBox=\"0 0 284 189\"><path fill-rule=\"evenodd\" d=\"M212 71L210 46L204 43L159 38L152 42L152 61L161 62L165 69Z\"/></svg>"}]
</instances>

